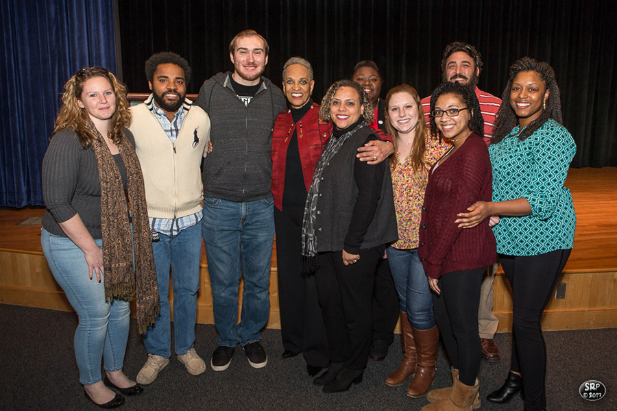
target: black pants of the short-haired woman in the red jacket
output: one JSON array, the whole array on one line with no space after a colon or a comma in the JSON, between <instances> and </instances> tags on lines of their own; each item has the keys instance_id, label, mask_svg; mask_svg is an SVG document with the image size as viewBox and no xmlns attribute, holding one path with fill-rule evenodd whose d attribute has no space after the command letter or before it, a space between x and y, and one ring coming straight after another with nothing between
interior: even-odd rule
<instances>
[{"instance_id":1,"label":"black pants of the short-haired woman in the red jacket","mask_svg":"<svg viewBox=\"0 0 617 411\"><path fill-rule=\"evenodd\" d=\"M302 277L304 206L274 208L278 306L283 348L302 353L306 364L328 366L328 338L319 308L315 276Z\"/></svg>"}]
</instances>

